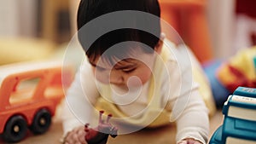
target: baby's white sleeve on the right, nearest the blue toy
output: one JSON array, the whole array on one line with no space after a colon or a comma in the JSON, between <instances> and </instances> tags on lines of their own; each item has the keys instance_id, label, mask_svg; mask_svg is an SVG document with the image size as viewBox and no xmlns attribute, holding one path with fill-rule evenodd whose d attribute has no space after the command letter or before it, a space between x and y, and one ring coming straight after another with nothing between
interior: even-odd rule
<instances>
[{"instance_id":1,"label":"baby's white sleeve on the right, nearest the blue toy","mask_svg":"<svg viewBox=\"0 0 256 144\"><path fill-rule=\"evenodd\" d=\"M170 120L175 120L177 123L177 141L194 138L204 144L207 143L209 131L207 107L198 92L198 84L193 79L182 79L189 76L190 67L179 69L176 61L169 61L167 66L170 80L167 82L168 78L163 78L162 89L165 93L169 91L165 94L168 98L165 98L172 110Z\"/></svg>"}]
</instances>

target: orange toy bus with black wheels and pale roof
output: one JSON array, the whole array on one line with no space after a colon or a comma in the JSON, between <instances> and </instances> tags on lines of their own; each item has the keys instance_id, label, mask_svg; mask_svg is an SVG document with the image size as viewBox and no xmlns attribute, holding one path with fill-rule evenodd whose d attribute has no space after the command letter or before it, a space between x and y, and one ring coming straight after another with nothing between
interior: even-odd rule
<instances>
[{"instance_id":1,"label":"orange toy bus with black wheels and pale roof","mask_svg":"<svg viewBox=\"0 0 256 144\"><path fill-rule=\"evenodd\" d=\"M71 83L71 73L66 76L70 81L65 83ZM28 128L34 134L46 132L63 96L59 62L0 66L0 134L3 140L20 141Z\"/></svg>"}]
</instances>

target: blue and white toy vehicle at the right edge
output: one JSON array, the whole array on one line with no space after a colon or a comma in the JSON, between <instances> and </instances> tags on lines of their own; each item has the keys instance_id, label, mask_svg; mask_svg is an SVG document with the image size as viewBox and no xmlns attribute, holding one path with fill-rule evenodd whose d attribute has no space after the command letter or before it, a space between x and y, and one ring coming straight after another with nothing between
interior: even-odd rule
<instances>
[{"instance_id":1,"label":"blue and white toy vehicle at the right edge","mask_svg":"<svg viewBox=\"0 0 256 144\"><path fill-rule=\"evenodd\" d=\"M216 130L210 144L256 143L256 89L238 87L224 103L224 124Z\"/></svg>"}]
</instances>

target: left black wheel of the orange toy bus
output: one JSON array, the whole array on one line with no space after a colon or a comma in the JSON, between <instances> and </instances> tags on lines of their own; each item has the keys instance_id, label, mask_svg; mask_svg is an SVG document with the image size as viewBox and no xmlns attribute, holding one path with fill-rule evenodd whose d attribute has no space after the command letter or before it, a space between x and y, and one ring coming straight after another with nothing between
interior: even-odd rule
<instances>
[{"instance_id":1,"label":"left black wheel of the orange toy bus","mask_svg":"<svg viewBox=\"0 0 256 144\"><path fill-rule=\"evenodd\" d=\"M10 118L3 131L3 140L8 142L21 141L26 136L26 120L21 116Z\"/></svg>"}]
</instances>

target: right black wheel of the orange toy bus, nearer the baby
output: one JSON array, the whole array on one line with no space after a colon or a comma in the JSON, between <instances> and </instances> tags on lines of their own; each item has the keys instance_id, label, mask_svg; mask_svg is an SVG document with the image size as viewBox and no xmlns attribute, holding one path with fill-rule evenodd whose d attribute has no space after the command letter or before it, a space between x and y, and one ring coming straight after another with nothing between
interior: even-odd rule
<instances>
[{"instance_id":1,"label":"right black wheel of the orange toy bus, nearer the baby","mask_svg":"<svg viewBox=\"0 0 256 144\"><path fill-rule=\"evenodd\" d=\"M43 134L49 129L51 114L47 109L38 111L33 119L31 130L34 134Z\"/></svg>"}]
</instances>

